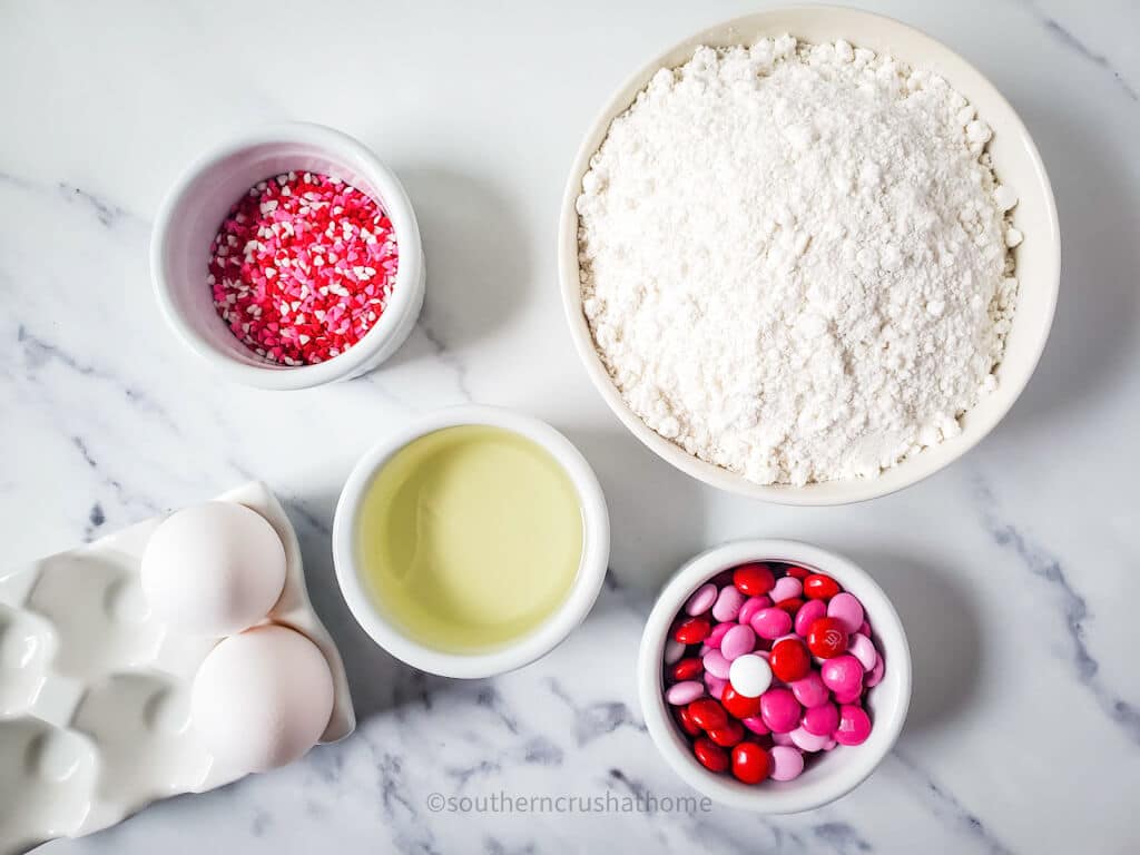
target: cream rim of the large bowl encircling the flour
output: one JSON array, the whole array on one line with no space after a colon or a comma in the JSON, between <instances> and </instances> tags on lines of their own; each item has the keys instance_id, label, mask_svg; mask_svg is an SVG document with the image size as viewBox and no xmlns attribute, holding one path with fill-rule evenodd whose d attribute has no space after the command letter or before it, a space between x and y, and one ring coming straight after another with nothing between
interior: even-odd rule
<instances>
[{"instance_id":1,"label":"cream rim of the large bowl encircling the flour","mask_svg":"<svg viewBox=\"0 0 1140 855\"><path fill-rule=\"evenodd\" d=\"M723 42L724 33L730 31L741 31L740 43L746 43L752 38L749 35L749 39L746 39L746 33L755 33L760 27L779 28L782 17L799 15L811 15L816 18L826 19L829 25L833 23L833 26L837 28L842 26L844 21L862 21L868 25L880 26L888 35L890 32L895 32L899 36L920 42L923 50L936 55L934 57L936 62L942 62L943 64L947 62L956 63L963 73L976 76L977 88L971 89L969 92L963 92L963 95L970 97L972 103L976 100L974 96L980 89L987 89L987 97L993 98L1000 109L1007 113L1009 124L1015 130L1015 135L1028 157L1032 171L1036 176L1042 198L1045 203L1043 213L1048 220L1048 234L1041 236L1042 245L1037 252L1042 253L1043 258L1048 256L1045 261L1048 272L1045 276L1040 277L1040 282L1034 280L1035 287L1048 287L1048 292L1044 294L1044 323L1037 341L1033 342L1032 347L1025 349L1029 358L1025 364L1024 374L1016 377L1003 376L1001 378L1001 386L1007 390L1008 397L1000 407L987 414L985 422L979 423L974 421L970 423L969 435L958 438L960 446L955 449L954 454L946 455L945 459L933 461L934 455L923 453L896 463L891 471L899 471L906 467L905 471L913 473L906 478L891 478L888 480L883 475L876 479L860 478L826 481L805 484L803 487L795 484L759 484L747 480L735 472L689 454L679 446L650 429L625 402L617 385L610 377L609 370L602 363L601 356L594 345L589 325L583 312L578 264L578 212L576 203L581 193L581 178L589 168L589 161L594 153L609 135L609 127L613 119L629 107L636 93L648 83L654 72L661 67L673 67L676 64L670 59L673 55L686 50L691 51L700 44ZM789 28L795 30L795 27ZM1044 351L1045 342L1049 339L1060 290L1060 227L1057 217L1057 204L1053 198L1049 176L1041 160L1041 154L1017 111L1013 109L1012 105L1010 105L988 78L982 74L982 72L962 58L956 51L934 36L896 18L844 6L787 6L723 21L703 27L693 35L675 42L627 76L605 100L579 144L562 195L557 233L559 285L562 293L562 308L570 327L570 337L573 341L575 349L578 351L579 359L586 367L586 373L591 382L601 393L602 399L613 414L658 457L661 457L685 474L728 492L782 505L831 506L866 502L911 487L942 471L967 454L985 439L1001 420L1005 417L1033 376L1041 360L1041 355ZM837 491L840 495L834 495Z\"/></svg>"}]
</instances>

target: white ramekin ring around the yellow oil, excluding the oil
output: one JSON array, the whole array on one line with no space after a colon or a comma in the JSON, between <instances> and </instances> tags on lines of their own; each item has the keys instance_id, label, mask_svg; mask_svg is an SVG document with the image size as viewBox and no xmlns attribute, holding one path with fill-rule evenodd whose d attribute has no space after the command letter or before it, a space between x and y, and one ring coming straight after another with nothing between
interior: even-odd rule
<instances>
[{"instance_id":1,"label":"white ramekin ring around the yellow oil, excluding the oil","mask_svg":"<svg viewBox=\"0 0 1140 855\"><path fill-rule=\"evenodd\" d=\"M360 577L360 506L373 479L388 459L420 437L443 427L486 424L513 431L545 448L570 477L583 516L583 551L578 576L562 605L532 632L504 648L472 654L449 653L408 637L385 614ZM418 418L374 446L356 465L341 491L333 520L336 580L357 622L380 646L408 665L445 677L488 677L521 668L548 653L586 617L597 600L610 559L610 516L605 497L586 458L575 446L537 418L496 407L448 407ZM542 572L542 568L535 568Z\"/></svg>"}]
</instances>

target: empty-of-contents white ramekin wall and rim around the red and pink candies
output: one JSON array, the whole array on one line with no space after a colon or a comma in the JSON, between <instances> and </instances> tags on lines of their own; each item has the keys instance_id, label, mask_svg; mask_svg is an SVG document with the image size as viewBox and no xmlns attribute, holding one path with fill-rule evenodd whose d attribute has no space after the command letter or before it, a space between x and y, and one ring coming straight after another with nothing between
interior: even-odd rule
<instances>
[{"instance_id":1,"label":"empty-of-contents white ramekin wall and rim around the red and pink candies","mask_svg":"<svg viewBox=\"0 0 1140 855\"><path fill-rule=\"evenodd\" d=\"M866 742L840 746L813 758L804 774L792 781L768 780L755 787L728 774L714 774L697 762L675 723L671 707L665 701L662 682L665 643L685 601L720 571L749 561L785 562L831 576L863 603L876 645L886 662L882 682L866 697L873 724ZM895 606L882 588L847 559L796 540L739 540L701 553L666 585L642 636L637 690L653 743L686 783L731 807L762 814L791 814L821 807L855 789L890 751L910 707L911 653Z\"/></svg>"}]
</instances>

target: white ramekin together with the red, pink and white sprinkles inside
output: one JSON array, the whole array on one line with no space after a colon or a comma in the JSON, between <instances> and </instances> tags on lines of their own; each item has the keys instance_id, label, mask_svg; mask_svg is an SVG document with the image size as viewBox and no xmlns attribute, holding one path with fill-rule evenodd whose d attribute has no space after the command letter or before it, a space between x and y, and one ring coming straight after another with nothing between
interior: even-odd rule
<instances>
[{"instance_id":1,"label":"white ramekin together with the red, pink and white sprinkles inside","mask_svg":"<svg viewBox=\"0 0 1140 855\"><path fill-rule=\"evenodd\" d=\"M247 135L193 164L158 211L150 266L178 337L263 389L375 368L423 306L402 186L360 142L316 124Z\"/></svg>"}]
</instances>

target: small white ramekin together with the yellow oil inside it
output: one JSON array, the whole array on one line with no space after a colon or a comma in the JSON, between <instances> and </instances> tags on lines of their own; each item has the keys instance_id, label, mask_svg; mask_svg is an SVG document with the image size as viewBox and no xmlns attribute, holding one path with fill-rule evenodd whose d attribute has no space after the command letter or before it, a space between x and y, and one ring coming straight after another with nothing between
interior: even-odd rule
<instances>
[{"instance_id":1,"label":"small white ramekin together with the yellow oil inside it","mask_svg":"<svg viewBox=\"0 0 1140 855\"><path fill-rule=\"evenodd\" d=\"M373 641L415 668L521 668L593 608L610 555L605 498L548 424L437 410L373 447L333 522L336 578Z\"/></svg>"}]
</instances>

